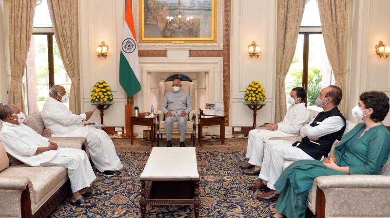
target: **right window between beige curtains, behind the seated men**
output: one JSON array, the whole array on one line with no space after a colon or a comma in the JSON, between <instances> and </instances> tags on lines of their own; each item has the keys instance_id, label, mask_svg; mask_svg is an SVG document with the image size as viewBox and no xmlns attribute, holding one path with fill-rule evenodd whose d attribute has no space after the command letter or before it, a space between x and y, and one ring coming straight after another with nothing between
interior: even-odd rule
<instances>
[{"instance_id":1,"label":"right window between beige curtains, behind the seated men","mask_svg":"<svg viewBox=\"0 0 390 218\"><path fill-rule=\"evenodd\" d=\"M308 0L303 13L295 54L286 79L286 97L294 87L308 92L306 103L310 109L322 88L334 84L334 77L326 54L324 38L316 0ZM289 107L290 105L287 105Z\"/></svg>"}]
</instances>

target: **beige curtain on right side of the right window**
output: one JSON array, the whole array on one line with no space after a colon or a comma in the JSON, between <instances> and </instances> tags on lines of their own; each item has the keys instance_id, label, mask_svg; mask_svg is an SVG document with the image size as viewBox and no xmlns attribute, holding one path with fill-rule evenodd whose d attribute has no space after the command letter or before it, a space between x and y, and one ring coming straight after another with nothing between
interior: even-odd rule
<instances>
[{"instance_id":1,"label":"beige curtain on right side of the right window","mask_svg":"<svg viewBox=\"0 0 390 218\"><path fill-rule=\"evenodd\" d=\"M336 86L343 91L339 105L345 112L345 75L347 74L348 3L349 0L317 0L326 53L333 70Z\"/></svg>"}]
</instances>

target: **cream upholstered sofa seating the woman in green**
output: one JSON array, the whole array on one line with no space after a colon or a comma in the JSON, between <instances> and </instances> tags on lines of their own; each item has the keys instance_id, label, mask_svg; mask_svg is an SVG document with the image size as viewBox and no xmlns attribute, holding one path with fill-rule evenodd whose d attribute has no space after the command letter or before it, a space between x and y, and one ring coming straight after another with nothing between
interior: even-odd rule
<instances>
[{"instance_id":1,"label":"cream upholstered sofa seating the woman in green","mask_svg":"<svg viewBox=\"0 0 390 218\"><path fill-rule=\"evenodd\" d=\"M318 113L310 112L311 119ZM355 125L347 121L344 134ZM271 139L295 142L301 137ZM283 169L292 163L286 160ZM308 214L316 218L390 218L390 156L382 175L317 177L308 196Z\"/></svg>"}]
</instances>

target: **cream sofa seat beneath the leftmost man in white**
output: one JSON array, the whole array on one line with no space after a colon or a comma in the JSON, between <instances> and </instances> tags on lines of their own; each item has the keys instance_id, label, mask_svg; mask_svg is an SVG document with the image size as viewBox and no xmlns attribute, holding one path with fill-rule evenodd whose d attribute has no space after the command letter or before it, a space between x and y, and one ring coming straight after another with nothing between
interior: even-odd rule
<instances>
[{"instance_id":1,"label":"cream sofa seat beneath the leftmost man in white","mask_svg":"<svg viewBox=\"0 0 390 218\"><path fill-rule=\"evenodd\" d=\"M23 164L9 167L3 170L0 175L9 178L19 175L19 177L26 178L32 184L29 189L33 213L68 180L67 170L61 166L34 167Z\"/></svg>"}]
</instances>

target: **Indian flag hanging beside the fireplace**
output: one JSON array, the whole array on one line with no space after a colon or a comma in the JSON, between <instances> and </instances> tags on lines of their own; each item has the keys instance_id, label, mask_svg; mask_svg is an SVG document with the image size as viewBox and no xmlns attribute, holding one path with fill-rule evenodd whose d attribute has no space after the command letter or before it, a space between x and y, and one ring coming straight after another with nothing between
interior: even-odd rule
<instances>
[{"instance_id":1,"label":"Indian flag hanging beside the fireplace","mask_svg":"<svg viewBox=\"0 0 390 218\"><path fill-rule=\"evenodd\" d=\"M129 97L141 90L136 42L131 3L130 0L127 0L125 22L123 24L123 41L120 49L119 83Z\"/></svg>"}]
</instances>

